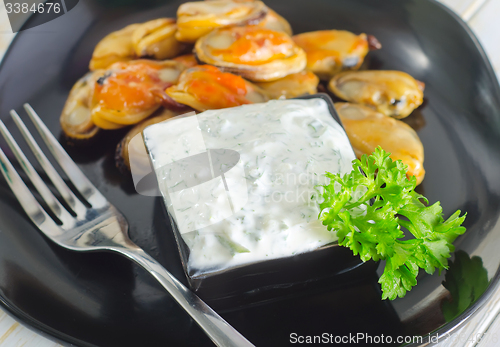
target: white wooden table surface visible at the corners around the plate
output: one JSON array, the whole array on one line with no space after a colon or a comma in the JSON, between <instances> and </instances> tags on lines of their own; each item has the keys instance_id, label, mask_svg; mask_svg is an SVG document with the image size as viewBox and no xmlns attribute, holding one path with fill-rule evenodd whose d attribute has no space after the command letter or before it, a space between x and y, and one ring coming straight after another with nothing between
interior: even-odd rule
<instances>
[{"instance_id":1,"label":"white wooden table surface visible at the corners around the plate","mask_svg":"<svg viewBox=\"0 0 500 347\"><path fill-rule=\"evenodd\" d=\"M468 22L485 48L500 80L500 0L440 0L452 8ZM9 46L12 34L4 6L0 0L0 60ZM488 305L475 314L464 327L445 339L438 346L478 346L500 345L500 286ZM496 335L498 334L498 336ZM480 338L480 339L479 339ZM57 347L59 344L24 327L0 310L0 346L2 347Z\"/></svg>"}]
</instances>

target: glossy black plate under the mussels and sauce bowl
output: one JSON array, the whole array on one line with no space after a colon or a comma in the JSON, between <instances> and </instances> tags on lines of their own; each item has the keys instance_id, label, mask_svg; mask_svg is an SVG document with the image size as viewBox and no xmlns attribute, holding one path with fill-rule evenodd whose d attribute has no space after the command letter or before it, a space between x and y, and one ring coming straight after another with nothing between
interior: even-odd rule
<instances>
[{"instance_id":1,"label":"glossy black plate under the mussels and sauce bowl","mask_svg":"<svg viewBox=\"0 0 500 347\"><path fill-rule=\"evenodd\" d=\"M421 191L444 213L468 212L468 232L457 249L482 258L492 283L500 264L500 88L469 29L428 0L267 1L295 32L347 29L375 35L383 49L370 53L375 69L406 71L426 83L426 103L410 118L425 147ZM0 70L0 115L31 103L55 134L72 84L87 70L98 40L126 24L174 16L180 1L86 0L68 14L21 32ZM149 6L149 7L146 7ZM28 25L39 20L33 16ZM41 19L40 19L41 20ZM13 129L12 122L6 124ZM19 136L14 131L16 137ZM134 193L114 168L123 132L98 145L67 147L99 190L127 216L132 239L185 282L175 241L159 198ZM2 147L3 146L2 143ZM210 345L208 338L143 270L114 254L61 249L28 221L0 181L0 297L18 320L66 343L99 346ZM324 280L273 300L219 310L258 346L288 344L291 333L314 335L427 334L450 331L487 299L489 291L450 323L444 274L422 274L404 299L380 300L377 275L357 281ZM491 286L490 286L491 287ZM463 308L461 309L463 310ZM364 343L361 343L364 345Z\"/></svg>"}]
</instances>

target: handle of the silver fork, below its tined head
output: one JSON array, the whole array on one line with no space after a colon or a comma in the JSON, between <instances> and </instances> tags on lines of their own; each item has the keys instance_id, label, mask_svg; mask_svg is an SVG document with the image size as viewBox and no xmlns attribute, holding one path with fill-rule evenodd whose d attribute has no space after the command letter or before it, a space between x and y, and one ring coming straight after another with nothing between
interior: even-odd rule
<instances>
[{"instance_id":1,"label":"handle of the silver fork, below its tined head","mask_svg":"<svg viewBox=\"0 0 500 347\"><path fill-rule=\"evenodd\" d=\"M220 347L254 346L195 293L142 249L120 249L120 253L146 269L195 320L215 345Z\"/></svg>"}]
</instances>

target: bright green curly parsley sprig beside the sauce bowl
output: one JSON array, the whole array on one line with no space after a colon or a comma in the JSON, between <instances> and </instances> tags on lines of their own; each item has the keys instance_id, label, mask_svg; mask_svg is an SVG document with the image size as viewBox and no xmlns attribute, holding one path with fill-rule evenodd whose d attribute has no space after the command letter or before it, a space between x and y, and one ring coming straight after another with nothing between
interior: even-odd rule
<instances>
[{"instance_id":1,"label":"bright green curly parsley sprig beside the sauce bowl","mask_svg":"<svg viewBox=\"0 0 500 347\"><path fill-rule=\"evenodd\" d=\"M379 279L382 298L394 300L417 284L420 268L429 274L448 268L466 214L456 211L444 220L440 203L426 206L427 199L414 191L415 177L408 179L406 165L389 155L379 147L354 160L343 177L327 172L319 219L363 261L386 261ZM414 238L404 240L401 228Z\"/></svg>"}]
</instances>

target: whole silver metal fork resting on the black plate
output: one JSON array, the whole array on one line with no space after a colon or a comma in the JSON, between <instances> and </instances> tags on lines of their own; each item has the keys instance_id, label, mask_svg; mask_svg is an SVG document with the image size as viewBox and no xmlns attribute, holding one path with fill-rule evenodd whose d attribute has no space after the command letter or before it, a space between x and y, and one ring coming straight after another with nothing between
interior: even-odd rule
<instances>
[{"instance_id":1,"label":"whole silver metal fork resting on the black plate","mask_svg":"<svg viewBox=\"0 0 500 347\"><path fill-rule=\"evenodd\" d=\"M113 251L135 261L161 283L217 346L253 346L154 258L130 240L128 222L125 217L81 172L35 110L29 104L24 104L24 108L59 166L83 197L83 200L90 206L86 206L75 196L42 152L19 115L16 111L11 110L10 114L14 122L40 166L69 207L66 209L52 194L0 120L0 133L41 198L59 220L57 223L40 206L0 148L2 174L22 208L38 229L59 246L73 251Z\"/></svg>"}]
</instances>

